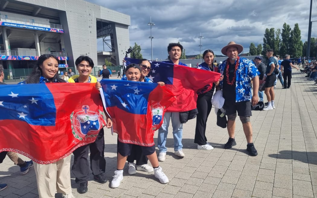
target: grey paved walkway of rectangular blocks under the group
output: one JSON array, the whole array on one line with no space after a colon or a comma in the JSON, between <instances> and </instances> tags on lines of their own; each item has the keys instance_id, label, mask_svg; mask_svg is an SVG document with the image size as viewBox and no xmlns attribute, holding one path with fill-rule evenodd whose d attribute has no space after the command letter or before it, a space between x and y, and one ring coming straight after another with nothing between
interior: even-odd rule
<instances>
[{"instance_id":1,"label":"grey paved walkway of rectangular blocks under the group","mask_svg":"<svg viewBox=\"0 0 317 198\"><path fill-rule=\"evenodd\" d=\"M253 111L251 123L258 156L246 154L247 142L238 118L237 145L230 150L223 149L228 140L227 130L216 126L212 109L206 136L214 150L197 150L193 142L195 120L184 124L186 156L183 159L173 154L173 137L171 132L168 134L167 159L160 166L170 179L169 183L159 183L153 173L137 171L137 174L130 176L125 169L124 180L118 188L110 188L109 182L99 184L90 176L88 192L78 194L78 185L72 175L75 197L316 198L317 86L304 76L293 70L290 89L281 89L278 82L275 110ZM109 130L105 134L106 172L111 180L116 167L117 136L112 136ZM157 133L154 137L157 137ZM22 158L27 160L24 156ZM19 167L8 158L0 165L0 181L9 185L0 192L0 198L38 196L34 170L22 176ZM56 194L56 197L60 198L61 195Z\"/></svg>"}]
</instances>

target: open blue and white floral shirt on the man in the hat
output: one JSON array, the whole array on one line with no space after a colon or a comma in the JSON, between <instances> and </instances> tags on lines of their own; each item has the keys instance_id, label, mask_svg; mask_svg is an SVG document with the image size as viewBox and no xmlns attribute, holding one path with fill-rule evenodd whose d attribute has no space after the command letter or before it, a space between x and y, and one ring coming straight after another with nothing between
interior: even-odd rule
<instances>
[{"instance_id":1,"label":"open blue and white floral shirt on the man in the hat","mask_svg":"<svg viewBox=\"0 0 317 198\"><path fill-rule=\"evenodd\" d=\"M219 73L223 74L227 61L228 59L219 65ZM240 57L239 62L236 71L236 102L249 101L251 100L251 79L260 75L260 72L249 59ZM222 85L223 81L220 82L221 87Z\"/></svg>"}]
</instances>

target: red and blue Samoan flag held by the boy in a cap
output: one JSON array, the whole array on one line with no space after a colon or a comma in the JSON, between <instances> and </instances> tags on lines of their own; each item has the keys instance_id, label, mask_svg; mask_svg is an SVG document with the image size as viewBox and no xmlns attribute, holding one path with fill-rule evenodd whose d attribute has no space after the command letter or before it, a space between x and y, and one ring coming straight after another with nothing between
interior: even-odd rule
<instances>
[{"instance_id":1,"label":"red and blue Samoan flag held by the boy in a cap","mask_svg":"<svg viewBox=\"0 0 317 198\"><path fill-rule=\"evenodd\" d=\"M100 84L103 104L119 141L153 146L154 131L162 125L166 108L175 96L157 83L101 80Z\"/></svg>"}]
</instances>

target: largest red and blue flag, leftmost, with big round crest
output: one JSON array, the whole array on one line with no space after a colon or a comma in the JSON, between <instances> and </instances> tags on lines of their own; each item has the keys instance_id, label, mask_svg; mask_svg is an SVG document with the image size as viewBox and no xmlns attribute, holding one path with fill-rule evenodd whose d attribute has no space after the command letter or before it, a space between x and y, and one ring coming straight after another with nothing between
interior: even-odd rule
<instances>
[{"instance_id":1,"label":"largest red and blue flag, leftmost, with big round crest","mask_svg":"<svg viewBox=\"0 0 317 198\"><path fill-rule=\"evenodd\" d=\"M48 164L95 141L105 125L95 83L0 85L0 152Z\"/></svg>"}]
</instances>

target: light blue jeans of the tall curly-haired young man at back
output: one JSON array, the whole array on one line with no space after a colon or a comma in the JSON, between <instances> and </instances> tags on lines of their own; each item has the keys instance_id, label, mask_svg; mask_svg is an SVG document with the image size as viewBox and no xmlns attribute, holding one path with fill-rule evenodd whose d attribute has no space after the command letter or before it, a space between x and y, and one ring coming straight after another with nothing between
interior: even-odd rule
<instances>
[{"instance_id":1,"label":"light blue jeans of the tall curly-haired young man at back","mask_svg":"<svg viewBox=\"0 0 317 198\"><path fill-rule=\"evenodd\" d=\"M183 148L182 137L183 137L183 124L179 120L179 112L165 112L163 117L163 124L159 128L158 136L158 148L159 152L166 153L167 148L165 146L168 126L170 125L170 120L172 121L173 127L173 137L174 137L174 151L181 150Z\"/></svg>"}]
</instances>

